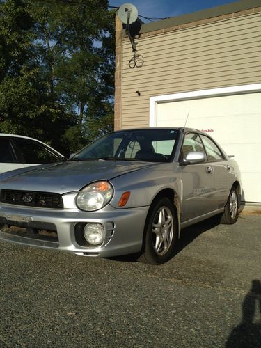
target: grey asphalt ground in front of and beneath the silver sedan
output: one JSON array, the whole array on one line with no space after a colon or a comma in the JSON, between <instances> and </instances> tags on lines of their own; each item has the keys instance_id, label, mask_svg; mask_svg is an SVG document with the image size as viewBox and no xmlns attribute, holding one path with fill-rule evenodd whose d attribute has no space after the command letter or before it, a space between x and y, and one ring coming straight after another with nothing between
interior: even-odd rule
<instances>
[{"instance_id":1,"label":"grey asphalt ground in front of and beneath the silver sedan","mask_svg":"<svg viewBox=\"0 0 261 348\"><path fill-rule=\"evenodd\" d=\"M0 347L261 347L261 215L150 266L0 243Z\"/></svg>"}]
</instances>

